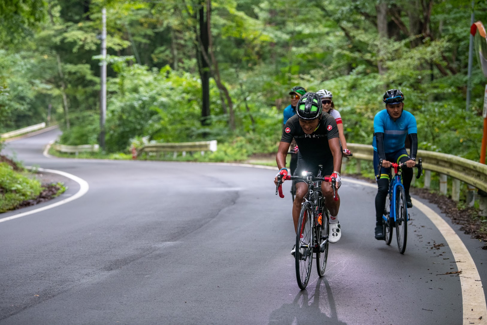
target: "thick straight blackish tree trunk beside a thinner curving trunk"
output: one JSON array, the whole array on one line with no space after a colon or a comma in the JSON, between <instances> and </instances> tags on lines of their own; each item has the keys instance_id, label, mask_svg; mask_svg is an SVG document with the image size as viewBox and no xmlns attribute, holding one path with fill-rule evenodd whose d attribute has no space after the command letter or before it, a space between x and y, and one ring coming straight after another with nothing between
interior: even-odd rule
<instances>
[{"instance_id":1,"label":"thick straight blackish tree trunk beside a thinner curving trunk","mask_svg":"<svg viewBox=\"0 0 487 325\"><path fill-rule=\"evenodd\" d=\"M201 106L201 125L208 125L210 123L210 71L208 57L208 20L205 21L205 9L202 6L199 10L200 36L198 38L199 54L201 62L200 76L201 76L201 90L202 90L202 106Z\"/></svg>"}]
</instances>

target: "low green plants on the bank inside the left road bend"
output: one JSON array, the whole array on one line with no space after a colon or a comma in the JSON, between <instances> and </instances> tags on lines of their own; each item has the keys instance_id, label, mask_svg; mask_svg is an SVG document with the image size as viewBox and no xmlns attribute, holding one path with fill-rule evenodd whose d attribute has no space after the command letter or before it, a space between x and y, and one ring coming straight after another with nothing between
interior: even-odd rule
<instances>
[{"instance_id":1,"label":"low green plants on the bank inside the left road bend","mask_svg":"<svg viewBox=\"0 0 487 325\"><path fill-rule=\"evenodd\" d=\"M40 182L23 173L15 172L7 163L0 163L0 213L11 210L24 200L37 197L42 190Z\"/></svg>"}]
</instances>

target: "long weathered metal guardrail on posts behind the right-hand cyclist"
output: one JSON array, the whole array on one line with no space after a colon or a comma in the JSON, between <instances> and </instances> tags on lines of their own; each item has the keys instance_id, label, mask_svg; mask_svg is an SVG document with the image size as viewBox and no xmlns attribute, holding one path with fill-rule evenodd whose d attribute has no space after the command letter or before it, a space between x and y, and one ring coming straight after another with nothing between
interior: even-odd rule
<instances>
[{"instance_id":1,"label":"long weathered metal guardrail on posts behind the right-hand cyclist","mask_svg":"<svg viewBox=\"0 0 487 325\"><path fill-rule=\"evenodd\" d=\"M360 172L360 160L372 161L374 159L374 148L371 145L347 143L347 148L354 153L351 158L358 159L357 172ZM487 192L487 165L452 154L437 153L427 150L418 150L416 156L423 159L425 188L430 187L431 172L438 172L440 174L440 192L444 194L447 193L447 176L453 178L451 198L454 201L459 200L460 181L481 191ZM473 188L469 188L470 192L471 190L473 190ZM480 200L480 210L483 214L487 214L487 199L482 196Z\"/></svg>"}]
</instances>

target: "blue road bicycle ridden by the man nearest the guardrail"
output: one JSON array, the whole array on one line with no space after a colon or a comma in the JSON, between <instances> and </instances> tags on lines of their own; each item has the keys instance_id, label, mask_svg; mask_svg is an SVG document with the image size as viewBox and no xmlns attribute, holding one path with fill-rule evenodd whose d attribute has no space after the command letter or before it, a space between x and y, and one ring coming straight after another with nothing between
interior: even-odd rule
<instances>
[{"instance_id":1,"label":"blue road bicycle ridden by the man nearest the guardrail","mask_svg":"<svg viewBox=\"0 0 487 325\"><path fill-rule=\"evenodd\" d=\"M389 193L386 198L386 205L384 209L384 215L382 216L384 227L384 240L387 245L391 245L393 239L393 228L396 229L397 248L401 254L404 254L406 250L406 242L408 238L408 221L409 213L406 205L406 194L404 192L404 186L402 185L401 169L402 163L391 163L391 167L394 168L394 177L392 177L392 168L389 169ZM423 174L423 165L421 158L419 162L414 166L418 168L418 174L416 178L419 178ZM382 169L382 159L379 162L379 175Z\"/></svg>"}]
</instances>

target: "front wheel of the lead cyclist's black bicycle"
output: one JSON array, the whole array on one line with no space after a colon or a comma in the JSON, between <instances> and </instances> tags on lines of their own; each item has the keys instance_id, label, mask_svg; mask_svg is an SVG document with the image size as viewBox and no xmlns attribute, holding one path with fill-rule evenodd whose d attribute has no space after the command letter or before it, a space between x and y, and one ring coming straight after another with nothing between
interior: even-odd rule
<instances>
[{"instance_id":1,"label":"front wheel of the lead cyclist's black bicycle","mask_svg":"<svg viewBox=\"0 0 487 325\"><path fill-rule=\"evenodd\" d=\"M300 289L308 285L311 275L311 266L313 262L313 229L311 220L313 210L309 203L304 203L301 207L300 219L298 221L298 232L296 233L296 279Z\"/></svg>"}]
</instances>

